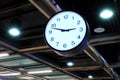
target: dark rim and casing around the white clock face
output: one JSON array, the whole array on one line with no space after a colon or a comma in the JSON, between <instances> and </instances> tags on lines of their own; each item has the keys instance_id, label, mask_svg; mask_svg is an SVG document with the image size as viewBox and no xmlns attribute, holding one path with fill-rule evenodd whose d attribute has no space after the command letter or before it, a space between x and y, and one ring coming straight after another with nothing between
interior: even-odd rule
<instances>
[{"instance_id":1,"label":"dark rim and casing around the white clock face","mask_svg":"<svg viewBox=\"0 0 120 80\"><path fill-rule=\"evenodd\" d=\"M59 12L57 12L56 14L54 14L53 16L51 16L51 17L49 18L49 20L47 21L47 23L51 20L52 17L54 17L55 15L57 15L57 14L59 14L59 13L61 13L61 12L64 12L64 11L59 11ZM71 12L75 12L75 11L71 11ZM77 13L77 12L75 12L75 13ZM77 14L79 14L79 13L77 13ZM71 56L74 56L74 54L70 54L70 53L72 53L73 51L77 51L77 49L80 48L80 45L82 45L83 48L84 48L84 47L86 47L86 45L88 44L87 42L89 41L89 36L90 36L89 25L88 25L88 22L87 22L86 18L83 17L81 14L79 14L79 15L80 15L80 16L84 19L84 21L85 21L85 24L86 24L86 33L85 33L85 36L84 36L83 40L81 41L81 43L79 43L76 47L74 47L74 48L72 48L72 49L63 51L63 50L57 50L57 49L53 48L53 47L47 42L47 40L46 40L46 36L45 36L45 30L46 30L46 28L45 28L45 30L44 30L44 41L45 41L45 43L46 43L54 52L56 52L57 54L59 54L59 55L61 55L61 56L71 57ZM46 25L47 25L47 23L46 23ZM46 26L45 26L45 27L46 27ZM85 46L84 46L83 43L85 43ZM81 46L81 48L82 48L82 46ZM80 50L79 50L79 51L80 51ZM77 55L77 54L75 54L75 55Z\"/></svg>"}]
</instances>

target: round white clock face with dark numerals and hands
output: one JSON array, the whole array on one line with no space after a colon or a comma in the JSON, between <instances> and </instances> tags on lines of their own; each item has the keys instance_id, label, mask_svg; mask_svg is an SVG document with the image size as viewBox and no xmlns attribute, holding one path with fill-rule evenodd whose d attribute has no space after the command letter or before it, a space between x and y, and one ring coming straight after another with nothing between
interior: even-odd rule
<instances>
[{"instance_id":1,"label":"round white clock face with dark numerals and hands","mask_svg":"<svg viewBox=\"0 0 120 80\"><path fill-rule=\"evenodd\" d=\"M45 38L56 50L67 51L77 47L86 35L84 19L72 11L63 11L53 16L47 23Z\"/></svg>"}]
</instances>

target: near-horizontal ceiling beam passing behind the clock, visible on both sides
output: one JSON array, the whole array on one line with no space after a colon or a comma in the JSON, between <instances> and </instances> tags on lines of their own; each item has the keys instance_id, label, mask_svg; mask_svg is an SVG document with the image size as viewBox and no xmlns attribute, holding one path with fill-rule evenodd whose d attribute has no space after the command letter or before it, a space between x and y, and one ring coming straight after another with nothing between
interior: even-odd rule
<instances>
[{"instance_id":1,"label":"near-horizontal ceiling beam passing behind the clock, visible on both sides","mask_svg":"<svg viewBox=\"0 0 120 80\"><path fill-rule=\"evenodd\" d=\"M43 37L43 36L42 36ZM111 44L111 43L118 43L120 42L120 34L100 34L96 36L92 36L89 41L89 45L97 46L97 45L104 45L104 44ZM19 49L19 51L37 51L37 50L50 50L49 47L44 43L43 46L32 47L32 48L23 48Z\"/></svg>"}]
</instances>

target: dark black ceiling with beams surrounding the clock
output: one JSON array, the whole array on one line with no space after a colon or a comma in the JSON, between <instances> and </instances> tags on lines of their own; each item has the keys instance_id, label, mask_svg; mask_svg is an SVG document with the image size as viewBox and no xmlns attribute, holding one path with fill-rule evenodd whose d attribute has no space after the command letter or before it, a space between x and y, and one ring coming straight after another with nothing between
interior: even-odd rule
<instances>
[{"instance_id":1,"label":"dark black ceiling with beams surrounding the clock","mask_svg":"<svg viewBox=\"0 0 120 80\"><path fill-rule=\"evenodd\" d=\"M49 16L42 13L32 2L50 17L57 13L55 5L59 5L62 10L72 10L84 16L91 33L88 47L74 57L63 57L53 52L45 44L43 36ZM0 0L0 45L14 54L26 56L79 80L89 80L89 74L93 75L94 80L120 80L120 1L55 0L55 2ZM99 17L100 11L104 8L114 11L111 19L103 20ZM20 22L22 34L16 38L7 32L12 20ZM94 32L98 27L104 28L105 31ZM66 66L67 61L73 61L74 66Z\"/></svg>"}]
</instances>

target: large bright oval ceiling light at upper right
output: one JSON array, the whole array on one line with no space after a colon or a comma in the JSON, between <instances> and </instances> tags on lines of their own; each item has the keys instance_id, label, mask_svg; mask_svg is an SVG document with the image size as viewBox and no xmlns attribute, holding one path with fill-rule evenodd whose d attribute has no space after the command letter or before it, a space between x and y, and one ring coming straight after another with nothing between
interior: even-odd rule
<instances>
[{"instance_id":1,"label":"large bright oval ceiling light at upper right","mask_svg":"<svg viewBox=\"0 0 120 80\"><path fill-rule=\"evenodd\" d=\"M104 9L102 10L102 12L100 13L100 17L103 19L109 19L113 16L113 11L110 9Z\"/></svg>"}]
</instances>

